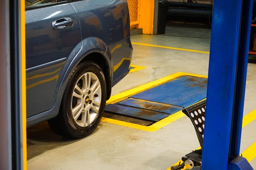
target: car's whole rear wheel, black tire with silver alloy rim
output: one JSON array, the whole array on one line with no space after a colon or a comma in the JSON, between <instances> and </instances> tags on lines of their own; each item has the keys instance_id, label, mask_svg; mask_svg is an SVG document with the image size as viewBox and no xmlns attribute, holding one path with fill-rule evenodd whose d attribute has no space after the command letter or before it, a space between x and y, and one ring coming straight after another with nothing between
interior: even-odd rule
<instances>
[{"instance_id":1,"label":"car's whole rear wheel, black tire with silver alloy rim","mask_svg":"<svg viewBox=\"0 0 256 170\"><path fill-rule=\"evenodd\" d=\"M82 138L99 125L106 105L106 79L101 67L80 63L67 82L57 117L48 120L58 135Z\"/></svg>"}]
</instances>

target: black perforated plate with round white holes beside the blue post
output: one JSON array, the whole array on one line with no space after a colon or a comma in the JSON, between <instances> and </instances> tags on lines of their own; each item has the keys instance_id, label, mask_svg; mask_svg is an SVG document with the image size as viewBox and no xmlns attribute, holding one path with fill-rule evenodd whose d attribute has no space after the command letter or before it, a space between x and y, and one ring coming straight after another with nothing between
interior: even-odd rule
<instances>
[{"instance_id":1,"label":"black perforated plate with round white holes beside the blue post","mask_svg":"<svg viewBox=\"0 0 256 170\"><path fill-rule=\"evenodd\" d=\"M203 147L204 139L205 109L206 100L182 110L191 119L201 147Z\"/></svg>"}]
</instances>

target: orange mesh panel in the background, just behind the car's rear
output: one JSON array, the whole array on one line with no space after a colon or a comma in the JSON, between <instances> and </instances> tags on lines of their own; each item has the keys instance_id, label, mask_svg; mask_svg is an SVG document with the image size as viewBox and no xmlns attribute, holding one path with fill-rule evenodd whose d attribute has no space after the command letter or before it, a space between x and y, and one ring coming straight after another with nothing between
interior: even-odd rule
<instances>
[{"instance_id":1,"label":"orange mesh panel in the background, just behind the car's rear","mask_svg":"<svg viewBox=\"0 0 256 170\"><path fill-rule=\"evenodd\" d=\"M140 0L127 0L130 13L130 25L139 24Z\"/></svg>"}]
</instances>

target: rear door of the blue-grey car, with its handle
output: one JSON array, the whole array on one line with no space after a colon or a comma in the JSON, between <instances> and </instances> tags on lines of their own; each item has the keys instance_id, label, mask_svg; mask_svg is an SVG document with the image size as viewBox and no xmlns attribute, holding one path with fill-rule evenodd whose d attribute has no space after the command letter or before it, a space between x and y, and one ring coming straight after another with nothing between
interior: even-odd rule
<instances>
[{"instance_id":1,"label":"rear door of the blue-grey car, with its handle","mask_svg":"<svg viewBox=\"0 0 256 170\"><path fill-rule=\"evenodd\" d=\"M59 1L59 0L58 0ZM26 0L27 117L50 110L69 56L81 47L76 11L67 0Z\"/></svg>"}]
</instances>

